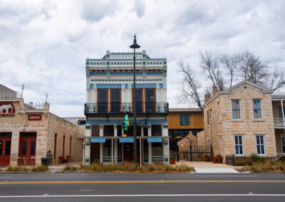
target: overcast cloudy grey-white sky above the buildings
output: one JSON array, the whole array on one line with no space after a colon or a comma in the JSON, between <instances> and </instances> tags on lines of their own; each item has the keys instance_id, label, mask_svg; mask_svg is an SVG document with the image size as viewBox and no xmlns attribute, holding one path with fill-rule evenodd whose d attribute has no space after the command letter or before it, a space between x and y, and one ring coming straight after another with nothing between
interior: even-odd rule
<instances>
[{"instance_id":1,"label":"overcast cloudy grey-white sky above the buildings","mask_svg":"<svg viewBox=\"0 0 285 202\"><path fill-rule=\"evenodd\" d=\"M44 101L48 92L51 112L83 117L86 58L132 51L134 33L147 55L167 58L170 107L190 106L177 102L180 59L205 80L201 50L250 50L285 67L282 0L0 0L0 83L16 91L24 83L25 102Z\"/></svg>"}]
</instances>

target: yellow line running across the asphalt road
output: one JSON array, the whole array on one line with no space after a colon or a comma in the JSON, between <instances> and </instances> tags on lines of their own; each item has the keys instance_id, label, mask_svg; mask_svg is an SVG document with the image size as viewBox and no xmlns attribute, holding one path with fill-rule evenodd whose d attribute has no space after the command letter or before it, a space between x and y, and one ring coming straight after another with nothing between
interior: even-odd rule
<instances>
[{"instance_id":1,"label":"yellow line running across the asphalt road","mask_svg":"<svg viewBox=\"0 0 285 202\"><path fill-rule=\"evenodd\" d=\"M285 181L245 181L245 180L230 180L230 181L19 181L19 182L1 182L1 184L140 184L140 183L285 183Z\"/></svg>"}]
</instances>

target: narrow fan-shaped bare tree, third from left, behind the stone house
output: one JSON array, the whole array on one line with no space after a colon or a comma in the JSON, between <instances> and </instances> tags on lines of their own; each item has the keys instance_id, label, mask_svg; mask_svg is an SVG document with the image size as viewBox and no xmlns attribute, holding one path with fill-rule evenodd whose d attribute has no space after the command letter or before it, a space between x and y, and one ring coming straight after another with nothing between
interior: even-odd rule
<instances>
[{"instance_id":1,"label":"narrow fan-shaped bare tree, third from left, behind the stone house","mask_svg":"<svg viewBox=\"0 0 285 202\"><path fill-rule=\"evenodd\" d=\"M227 75L229 75L229 87L232 87L234 75L239 67L240 56L239 54L228 55L227 53L224 53L219 56L219 61L224 64Z\"/></svg>"}]
</instances>

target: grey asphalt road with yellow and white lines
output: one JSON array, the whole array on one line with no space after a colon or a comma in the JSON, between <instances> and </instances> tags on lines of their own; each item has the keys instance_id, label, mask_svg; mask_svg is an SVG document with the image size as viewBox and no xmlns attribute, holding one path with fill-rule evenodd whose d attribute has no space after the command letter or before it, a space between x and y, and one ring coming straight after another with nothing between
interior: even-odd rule
<instances>
[{"instance_id":1,"label":"grey asphalt road with yellow and white lines","mask_svg":"<svg viewBox=\"0 0 285 202\"><path fill-rule=\"evenodd\" d=\"M285 201L285 174L0 174L0 201Z\"/></svg>"}]
</instances>

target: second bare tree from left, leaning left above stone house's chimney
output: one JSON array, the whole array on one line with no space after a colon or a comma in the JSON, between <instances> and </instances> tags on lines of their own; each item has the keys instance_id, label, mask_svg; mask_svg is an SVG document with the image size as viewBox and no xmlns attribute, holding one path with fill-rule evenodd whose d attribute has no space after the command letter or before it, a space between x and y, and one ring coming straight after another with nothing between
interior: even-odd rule
<instances>
[{"instance_id":1,"label":"second bare tree from left, leaning left above stone house's chimney","mask_svg":"<svg viewBox=\"0 0 285 202\"><path fill-rule=\"evenodd\" d=\"M200 66L204 73L207 73L207 77L212 80L212 84L217 86L218 90L224 90L225 82L222 70L219 69L217 60L212 58L212 54L209 51L204 50L204 52L200 52Z\"/></svg>"}]
</instances>

